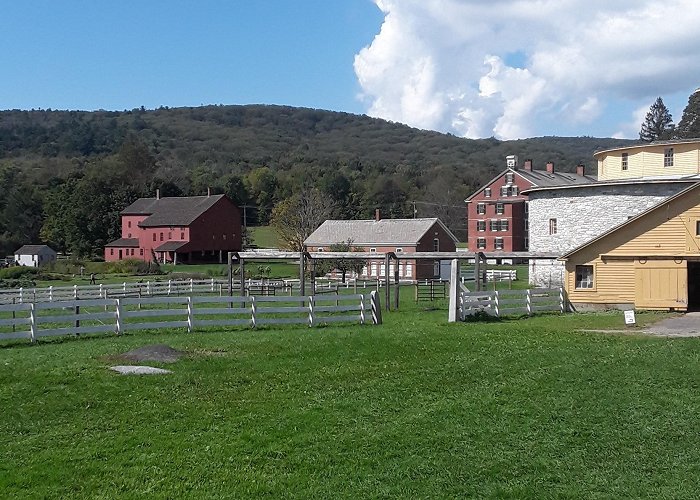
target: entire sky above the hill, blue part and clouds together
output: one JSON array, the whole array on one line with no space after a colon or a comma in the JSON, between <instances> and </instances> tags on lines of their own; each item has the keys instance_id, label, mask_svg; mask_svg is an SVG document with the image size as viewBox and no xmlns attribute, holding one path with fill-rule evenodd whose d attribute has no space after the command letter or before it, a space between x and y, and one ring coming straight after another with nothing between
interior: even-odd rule
<instances>
[{"instance_id":1,"label":"entire sky above the hill, blue part and clouds together","mask_svg":"<svg viewBox=\"0 0 700 500\"><path fill-rule=\"evenodd\" d=\"M0 109L285 104L635 138L700 86L697 0L0 0ZM643 36L641 36L643 34Z\"/></svg>"}]
</instances>

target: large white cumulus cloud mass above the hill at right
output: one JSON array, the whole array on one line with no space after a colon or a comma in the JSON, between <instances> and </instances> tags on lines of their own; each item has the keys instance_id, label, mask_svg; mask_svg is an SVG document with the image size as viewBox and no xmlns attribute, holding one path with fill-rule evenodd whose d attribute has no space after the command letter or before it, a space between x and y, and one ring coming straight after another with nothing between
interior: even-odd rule
<instances>
[{"instance_id":1,"label":"large white cumulus cloud mass above the hill at right","mask_svg":"<svg viewBox=\"0 0 700 500\"><path fill-rule=\"evenodd\" d=\"M375 3L384 22L355 56L361 99L368 114L419 128L635 137L639 109L700 84L696 0Z\"/></svg>"}]
</instances>

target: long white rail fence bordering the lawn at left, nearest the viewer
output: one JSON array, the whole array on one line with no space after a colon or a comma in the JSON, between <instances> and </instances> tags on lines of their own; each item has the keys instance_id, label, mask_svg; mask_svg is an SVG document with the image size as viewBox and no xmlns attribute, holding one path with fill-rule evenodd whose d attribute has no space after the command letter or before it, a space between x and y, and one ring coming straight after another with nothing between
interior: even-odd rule
<instances>
[{"instance_id":1,"label":"long white rail fence bordering the lawn at left, nearest the viewer","mask_svg":"<svg viewBox=\"0 0 700 500\"><path fill-rule=\"evenodd\" d=\"M309 297L170 296L0 305L0 340L160 328L381 323L379 294Z\"/></svg>"}]
</instances>

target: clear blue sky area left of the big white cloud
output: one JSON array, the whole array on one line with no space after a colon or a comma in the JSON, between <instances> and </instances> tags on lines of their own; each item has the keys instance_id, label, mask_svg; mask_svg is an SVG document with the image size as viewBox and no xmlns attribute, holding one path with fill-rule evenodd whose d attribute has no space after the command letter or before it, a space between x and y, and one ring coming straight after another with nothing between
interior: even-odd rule
<instances>
[{"instance_id":1,"label":"clear blue sky area left of the big white cloud","mask_svg":"<svg viewBox=\"0 0 700 500\"><path fill-rule=\"evenodd\" d=\"M268 103L360 113L353 58L382 21L369 0L0 5L2 109Z\"/></svg>"}]
</instances>

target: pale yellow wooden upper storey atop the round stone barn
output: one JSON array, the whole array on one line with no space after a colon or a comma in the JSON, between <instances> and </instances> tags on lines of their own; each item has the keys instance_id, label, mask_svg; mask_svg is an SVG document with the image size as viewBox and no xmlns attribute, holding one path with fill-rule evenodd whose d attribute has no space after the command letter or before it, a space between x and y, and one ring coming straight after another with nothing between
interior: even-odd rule
<instances>
[{"instance_id":1,"label":"pale yellow wooden upper storey atop the round stone barn","mask_svg":"<svg viewBox=\"0 0 700 500\"><path fill-rule=\"evenodd\" d=\"M659 141L598 151L598 180L700 174L700 139Z\"/></svg>"}]
</instances>

